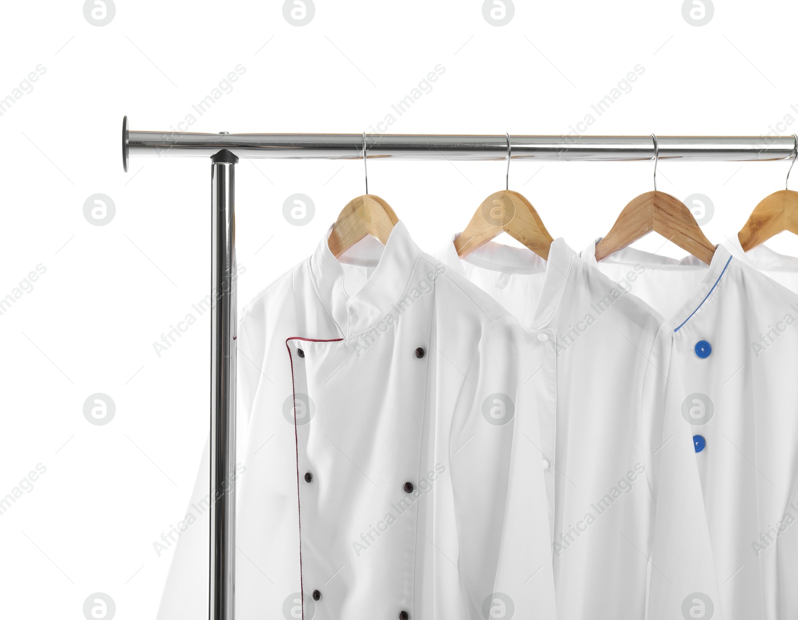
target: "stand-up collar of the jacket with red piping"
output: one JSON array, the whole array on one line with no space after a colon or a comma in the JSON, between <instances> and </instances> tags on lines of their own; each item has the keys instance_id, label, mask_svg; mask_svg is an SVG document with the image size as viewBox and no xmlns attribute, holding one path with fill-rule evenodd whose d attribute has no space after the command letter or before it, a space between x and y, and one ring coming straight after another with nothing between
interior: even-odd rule
<instances>
[{"instance_id":1,"label":"stand-up collar of the jacket with red piping","mask_svg":"<svg viewBox=\"0 0 798 620\"><path fill-rule=\"evenodd\" d=\"M319 298L345 338L374 326L393 309L407 287L421 249L405 224L397 222L385 247L366 235L336 259L327 245L330 230L308 259ZM368 281L351 297L344 288L342 263L372 269Z\"/></svg>"}]
</instances>

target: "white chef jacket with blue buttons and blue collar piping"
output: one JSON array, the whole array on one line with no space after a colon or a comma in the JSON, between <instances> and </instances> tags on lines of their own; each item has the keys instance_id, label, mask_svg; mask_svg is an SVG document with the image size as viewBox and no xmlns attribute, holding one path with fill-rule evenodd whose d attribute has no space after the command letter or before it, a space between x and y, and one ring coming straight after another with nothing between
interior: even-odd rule
<instances>
[{"instance_id":1,"label":"white chef jacket with blue buttons and blue collar piping","mask_svg":"<svg viewBox=\"0 0 798 620\"><path fill-rule=\"evenodd\" d=\"M674 326L725 617L798 618L798 296L746 262L627 247L598 267Z\"/></svg>"}]
</instances>

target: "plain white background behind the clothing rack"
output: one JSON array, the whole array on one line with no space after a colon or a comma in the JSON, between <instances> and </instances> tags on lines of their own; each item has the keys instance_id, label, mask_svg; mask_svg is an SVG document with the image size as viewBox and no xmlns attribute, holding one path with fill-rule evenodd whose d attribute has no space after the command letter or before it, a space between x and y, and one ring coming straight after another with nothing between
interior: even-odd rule
<instances>
[{"instance_id":1,"label":"plain white background behind the clothing rack","mask_svg":"<svg viewBox=\"0 0 798 620\"><path fill-rule=\"evenodd\" d=\"M106 26L82 2L6 2L0 97L0 298L37 265L32 290L0 315L0 498L37 464L46 472L0 515L2 615L84 618L94 592L116 618L154 618L172 551L153 542L184 515L207 435L210 164L134 159L120 124L196 132L361 132L393 114L396 133L789 135L798 129L795 2L716 2L693 26L674 2L516 2L506 26L482 2L322 2L294 26L282 2L121 2ZM232 90L192 108L235 67ZM436 65L444 73L403 115L392 105ZM606 113L595 104L644 69ZM45 69L41 73L41 69ZM239 68L239 70L240 70ZM221 93L221 90L219 91ZM794 107L793 107L794 106ZM462 230L504 162L369 162L385 198L426 251ZM788 162L673 163L659 189L714 205L704 227L733 237L756 203L784 188ZM579 251L652 188L650 162L513 164L510 188ZM363 193L361 160L242 160L237 166L239 306L313 251ZM798 172L795 174L798 177ZM798 188L796 178L794 188ZM90 195L113 199L104 226ZM305 226L283 217L310 196ZM504 239L506 235L502 238ZM638 247L681 256L650 235ZM798 239L768 243L798 255ZM160 357L153 342L198 319ZM90 394L116 414L92 425ZM204 526L203 526L204 527Z\"/></svg>"}]
</instances>

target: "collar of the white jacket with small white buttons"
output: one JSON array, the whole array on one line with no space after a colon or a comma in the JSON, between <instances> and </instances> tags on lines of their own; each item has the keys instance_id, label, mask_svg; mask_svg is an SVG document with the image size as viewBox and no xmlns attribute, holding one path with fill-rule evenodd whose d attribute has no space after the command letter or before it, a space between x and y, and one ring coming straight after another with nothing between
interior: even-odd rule
<instances>
[{"instance_id":1,"label":"collar of the white jacket with small white buttons","mask_svg":"<svg viewBox=\"0 0 798 620\"><path fill-rule=\"evenodd\" d=\"M458 236L459 234L452 236L452 240L438 252L437 258L461 275L465 275L463 263L500 274L543 274L543 290L535 306L531 325L526 327L532 330L546 328L555 317L571 273L571 265L576 258L575 252L568 247L565 240L555 239L551 243L548 260L543 260L525 247L505 246L493 241L460 259L454 247L454 240Z\"/></svg>"}]
</instances>

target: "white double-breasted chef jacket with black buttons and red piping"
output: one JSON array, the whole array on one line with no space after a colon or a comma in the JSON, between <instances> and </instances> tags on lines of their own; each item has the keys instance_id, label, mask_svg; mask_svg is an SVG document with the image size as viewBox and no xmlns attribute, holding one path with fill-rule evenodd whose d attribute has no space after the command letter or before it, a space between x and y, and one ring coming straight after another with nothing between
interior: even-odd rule
<instances>
[{"instance_id":1,"label":"white double-breasted chef jacket with black buttons and red piping","mask_svg":"<svg viewBox=\"0 0 798 620\"><path fill-rule=\"evenodd\" d=\"M555 618L543 474L509 472L539 443L515 318L399 222L322 239L237 342L239 620Z\"/></svg>"}]
</instances>

